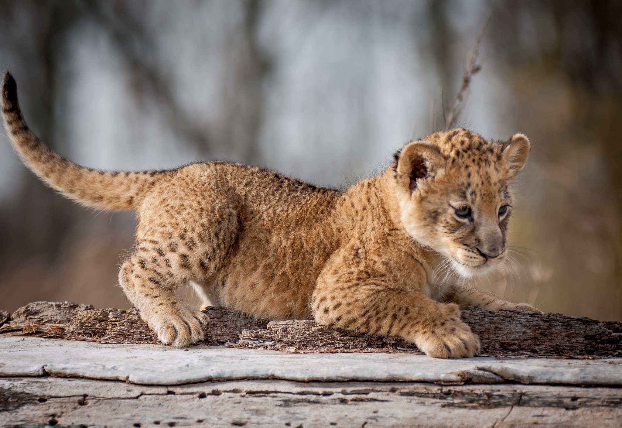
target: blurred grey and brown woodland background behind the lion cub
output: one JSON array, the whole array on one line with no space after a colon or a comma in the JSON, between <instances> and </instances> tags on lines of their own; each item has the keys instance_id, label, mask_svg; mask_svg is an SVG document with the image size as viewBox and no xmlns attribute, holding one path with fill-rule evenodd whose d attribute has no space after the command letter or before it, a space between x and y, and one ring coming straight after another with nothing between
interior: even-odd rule
<instances>
[{"instance_id":1,"label":"blurred grey and brown woodland background behind the lion cub","mask_svg":"<svg viewBox=\"0 0 622 428\"><path fill-rule=\"evenodd\" d=\"M456 124L533 149L514 267L480 286L622 320L618 0L4 0L0 63L30 127L80 164L228 159L345 188L442 129L488 16ZM115 284L134 226L44 187L0 136L0 309L129 307Z\"/></svg>"}]
</instances>

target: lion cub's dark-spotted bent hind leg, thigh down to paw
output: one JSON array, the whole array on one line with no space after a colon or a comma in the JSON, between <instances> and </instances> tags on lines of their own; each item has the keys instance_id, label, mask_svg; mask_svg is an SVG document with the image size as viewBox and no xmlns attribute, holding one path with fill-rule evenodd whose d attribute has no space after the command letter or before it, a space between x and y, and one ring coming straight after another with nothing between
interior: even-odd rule
<instances>
[{"instance_id":1,"label":"lion cub's dark-spotted bent hind leg, thigh down to paw","mask_svg":"<svg viewBox=\"0 0 622 428\"><path fill-rule=\"evenodd\" d=\"M119 271L123 291L165 345L183 348L202 340L207 315L173 291L220 269L235 241L238 220L233 210L207 217L187 215L190 220L178 228L139 226L137 249Z\"/></svg>"}]
</instances>

